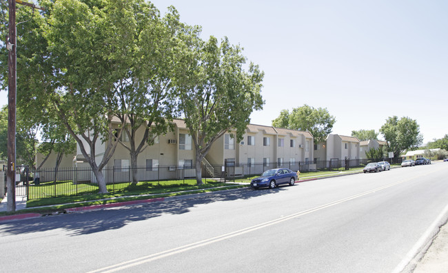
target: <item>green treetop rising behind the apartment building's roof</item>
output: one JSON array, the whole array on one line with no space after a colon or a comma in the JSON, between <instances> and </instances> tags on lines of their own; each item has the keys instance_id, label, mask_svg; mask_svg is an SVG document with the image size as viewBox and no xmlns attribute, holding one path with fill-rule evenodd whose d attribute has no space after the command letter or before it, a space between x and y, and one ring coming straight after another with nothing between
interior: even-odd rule
<instances>
[{"instance_id":1,"label":"green treetop rising behind the apartment building's roof","mask_svg":"<svg viewBox=\"0 0 448 273\"><path fill-rule=\"evenodd\" d=\"M314 136L314 142L317 143L325 141L327 135L332 132L335 122L335 117L329 114L327 108L316 109L305 104L299 108L293 108L291 112L282 110L280 116L272 121L272 125L279 128L309 131Z\"/></svg>"}]
</instances>

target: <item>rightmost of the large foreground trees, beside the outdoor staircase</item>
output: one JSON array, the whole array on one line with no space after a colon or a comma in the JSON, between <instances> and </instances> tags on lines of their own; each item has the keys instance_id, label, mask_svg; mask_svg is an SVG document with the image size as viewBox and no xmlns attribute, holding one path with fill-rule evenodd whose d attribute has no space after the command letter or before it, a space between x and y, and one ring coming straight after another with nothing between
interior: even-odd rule
<instances>
[{"instance_id":1,"label":"rightmost of the large foreground trees, beside the outdoor staircase","mask_svg":"<svg viewBox=\"0 0 448 273\"><path fill-rule=\"evenodd\" d=\"M179 110L190 129L201 185L201 162L214 141L230 130L241 140L250 114L262 108L263 72L253 63L243 69L242 49L227 38L218 43L214 37L201 41L190 34L184 39L186 54L179 70Z\"/></svg>"}]
</instances>

